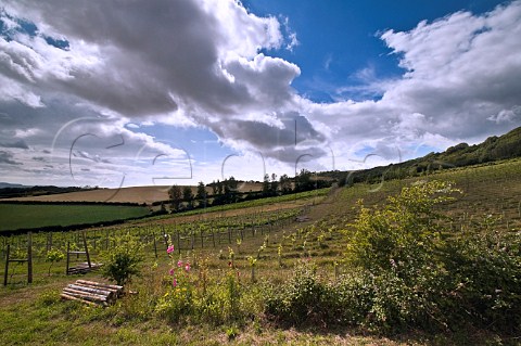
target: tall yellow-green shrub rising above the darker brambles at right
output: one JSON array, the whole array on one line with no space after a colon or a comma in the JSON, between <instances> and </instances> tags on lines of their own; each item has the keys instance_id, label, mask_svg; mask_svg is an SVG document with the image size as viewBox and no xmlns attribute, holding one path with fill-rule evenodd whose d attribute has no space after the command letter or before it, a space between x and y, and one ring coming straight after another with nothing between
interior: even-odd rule
<instances>
[{"instance_id":1,"label":"tall yellow-green shrub rising above the darker brambles at right","mask_svg":"<svg viewBox=\"0 0 521 346\"><path fill-rule=\"evenodd\" d=\"M445 218L434 206L454 200L454 192L458 190L447 182L419 181L387 197L381 209L359 202L360 213L347 235L347 261L372 272L427 264L440 245L436 225Z\"/></svg>"}]
</instances>

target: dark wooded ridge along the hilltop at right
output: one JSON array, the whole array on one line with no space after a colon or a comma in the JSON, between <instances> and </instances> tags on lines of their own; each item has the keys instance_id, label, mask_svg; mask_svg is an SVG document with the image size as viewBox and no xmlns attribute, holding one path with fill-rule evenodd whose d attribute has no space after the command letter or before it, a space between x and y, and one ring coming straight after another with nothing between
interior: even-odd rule
<instances>
[{"instance_id":1,"label":"dark wooded ridge along the hilltop at right","mask_svg":"<svg viewBox=\"0 0 521 346\"><path fill-rule=\"evenodd\" d=\"M445 152L430 153L404 163L357 171L327 171L321 172L320 176L334 179L339 185L352 185L357 182L377 183L382 180L418 177L446 168L486 164L514 157L521 157L521 127L500 137L490 137L480 144L460 143L448 148Z\"/></svg>"}]
</instances>

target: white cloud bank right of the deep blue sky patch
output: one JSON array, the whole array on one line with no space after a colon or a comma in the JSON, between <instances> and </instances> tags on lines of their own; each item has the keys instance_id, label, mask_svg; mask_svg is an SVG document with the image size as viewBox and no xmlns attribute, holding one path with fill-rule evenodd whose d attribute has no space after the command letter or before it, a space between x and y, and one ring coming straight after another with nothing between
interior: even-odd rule
<instances>
[{"instance_id":1,"label":"white cloud bank right of the deep blue sky patch","mask_svg":"<svg viewBox=\"0 0 521 346\"><path fill-rule=\"evenodd\" d=\"M401 56L403 78L374 81L370 71L360 72L368 88L384 87L380 100L307 102L310 120L330 128L338 146L377 153L504 133L521 125L520 36L519 1L479 16L458 12L410 31L389 30L381 39Z\"/></svg>"}]
</instances>

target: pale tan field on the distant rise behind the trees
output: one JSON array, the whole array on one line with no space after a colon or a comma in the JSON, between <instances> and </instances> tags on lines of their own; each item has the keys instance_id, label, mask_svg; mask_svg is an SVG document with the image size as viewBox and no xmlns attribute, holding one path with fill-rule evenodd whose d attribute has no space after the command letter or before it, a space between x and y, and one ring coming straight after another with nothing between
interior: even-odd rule
<instances>
[{"instance_id":1,"label":"pale tan field on the distant rise behind the trees","mask_svg":"<svg viewBox=\"0 0 521 346\"><path fill-rule=\"evenodd\" d=\"M91 191L78 191L69 193L59 193L45 196L31 196L20 198L8 198L13 201L39 201L39 202L128 202L128 203L147 203L151 204L157 201L168 200L169 185L152 185L152 187L132 187L122 189L100 189ZM260 183L240 183L239 191L260 191ZM193 194L196 188L192 187ZM211 188L206 188L212 193ZM0 200L1 202L1 200Z\"/></svg>"}]
</instances>

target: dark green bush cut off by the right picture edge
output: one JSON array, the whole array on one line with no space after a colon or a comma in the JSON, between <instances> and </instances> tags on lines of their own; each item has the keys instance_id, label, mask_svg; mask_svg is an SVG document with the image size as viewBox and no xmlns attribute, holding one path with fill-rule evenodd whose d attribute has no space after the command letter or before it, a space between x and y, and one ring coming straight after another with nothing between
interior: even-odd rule
<instances>
[{"instance_id":1,"label":"dark green bush cut off by the right picture edge","mask_svg":"<svg viewBox=\"0 0 521 346\"><path fill-rule=\"evenodd\" d=\"M448 244L445 252L460 310L481 325L519 332L521 233L475 233Z\"/></svg>"}]
</instances>

